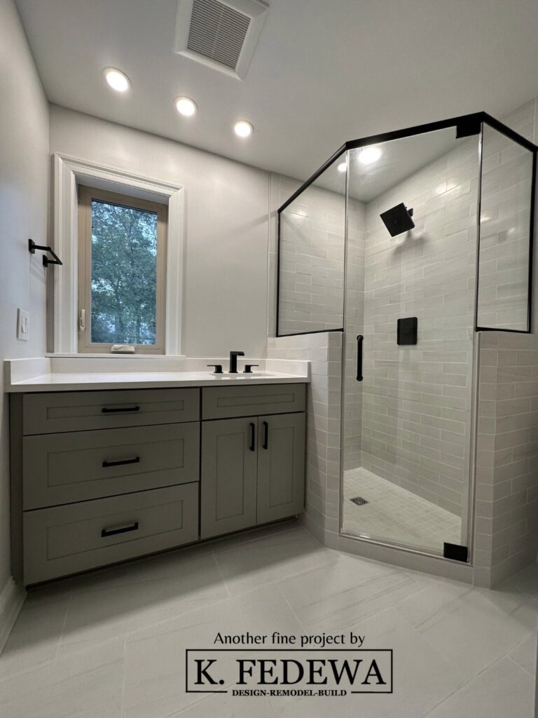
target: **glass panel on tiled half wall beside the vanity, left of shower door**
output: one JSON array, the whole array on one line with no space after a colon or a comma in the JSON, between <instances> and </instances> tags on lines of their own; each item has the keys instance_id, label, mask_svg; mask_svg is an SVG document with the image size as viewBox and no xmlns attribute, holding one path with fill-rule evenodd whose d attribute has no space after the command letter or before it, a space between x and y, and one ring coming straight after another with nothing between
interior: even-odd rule
<instances>
[{"instance_id":1,"label":"glass panel on tiled half wall beside the vanity, left of shower door","mask_svg":"<svg viewBox=\"0 0 538 718\"><path fill-rule=\"evenodd\" d=\"M280 213L278 335L344 325L345 155Z\"/></svg>"}]
</instances>

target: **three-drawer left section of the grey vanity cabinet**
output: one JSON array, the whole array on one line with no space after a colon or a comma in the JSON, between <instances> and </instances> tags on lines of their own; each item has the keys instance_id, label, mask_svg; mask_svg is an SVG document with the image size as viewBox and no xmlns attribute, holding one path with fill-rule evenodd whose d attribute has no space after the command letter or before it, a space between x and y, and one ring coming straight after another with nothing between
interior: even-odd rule
<instances>
[{"instance_id":1,"label":"three-drawer left section of the grey vanity cabinet","mask_svg":"<svg viewBox=\"0 0 538 718\"><path fill-rule=\"evenodd\" d=\"M29 393L10 404L16 581L198 540L199 388Z\"/></svg>"}]
</instances>

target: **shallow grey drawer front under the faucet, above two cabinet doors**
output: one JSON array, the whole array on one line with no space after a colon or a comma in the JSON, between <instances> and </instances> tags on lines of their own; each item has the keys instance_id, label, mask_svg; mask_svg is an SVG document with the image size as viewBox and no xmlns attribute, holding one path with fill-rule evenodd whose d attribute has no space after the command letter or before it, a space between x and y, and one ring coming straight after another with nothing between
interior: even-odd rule
<instances>
[{"instance_id":1,"label":"shallow grey drawer front under the faucet, above two cabinet doors","mask_svg":"<svg viewBox=\"0 0 538 718\"><path fill-rule=\"evenodd\" d=\"M202 419L304 411L305 396L304 384L209 386L202 388Z\"/></svg>"}]
</instances>

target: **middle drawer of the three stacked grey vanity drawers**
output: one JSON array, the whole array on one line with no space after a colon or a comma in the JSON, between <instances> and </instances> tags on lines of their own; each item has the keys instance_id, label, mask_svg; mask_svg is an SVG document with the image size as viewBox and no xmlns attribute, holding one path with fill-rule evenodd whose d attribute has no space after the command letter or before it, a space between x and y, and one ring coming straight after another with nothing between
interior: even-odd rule
<instances>
[{"instance_id":1,"label":"middle drawer of the three stacked grey vanity drawers","mask_svg":"<svg viewBox=\"0 0 538 718\"><path fill-rule=\"evenodd\" d=\"M25 510L198 478L198 421L23 439Z\"/></svg>"}]
</instances>

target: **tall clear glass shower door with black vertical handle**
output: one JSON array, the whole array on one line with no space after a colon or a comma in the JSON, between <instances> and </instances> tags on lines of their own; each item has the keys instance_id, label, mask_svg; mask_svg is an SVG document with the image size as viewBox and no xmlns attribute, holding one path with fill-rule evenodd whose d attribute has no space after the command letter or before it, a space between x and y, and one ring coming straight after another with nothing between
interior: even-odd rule
<instances>
[{"instance_id":1,"label":"tall clear glass shower door with black vertical handle","mask_svg":"<svg viewBox=\"0 0 538 718\"><path fill-rule=\"evenodd\" d=\"M347 153L341 532L463 560L478 171L454 127Z\"/></svg>"}]
</instances>

